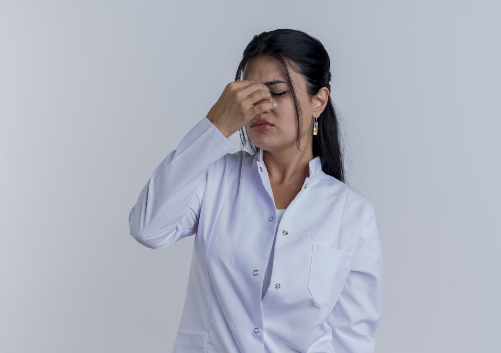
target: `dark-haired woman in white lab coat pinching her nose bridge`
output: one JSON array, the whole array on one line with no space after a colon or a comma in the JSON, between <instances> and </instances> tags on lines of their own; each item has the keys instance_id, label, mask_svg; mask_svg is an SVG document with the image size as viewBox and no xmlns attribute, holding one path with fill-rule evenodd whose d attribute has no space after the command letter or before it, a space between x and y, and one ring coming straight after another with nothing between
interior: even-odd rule
<instances>
[{"instance_id":1,"label":"dark-haired woman in white lab coat pinching her nose bridge","mask_svg":"<svg viewBox=\"0 0 501 353\"><path fill-rule=\"evenodd\" d=\"M255 36L142 189L138 242L195 234L174 353L374 351L383 256L373 204L344 183L330 79L317 39ZM252 154L230 153L238 130Z\"/></svg>"}]
</instances>

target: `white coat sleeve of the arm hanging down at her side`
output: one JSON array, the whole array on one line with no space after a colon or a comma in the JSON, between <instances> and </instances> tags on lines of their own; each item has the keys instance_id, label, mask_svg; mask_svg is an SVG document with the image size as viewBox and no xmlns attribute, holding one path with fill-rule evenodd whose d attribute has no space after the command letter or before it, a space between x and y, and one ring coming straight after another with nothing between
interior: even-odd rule
<instances>
[{"instance_id":1,"label":"white coat sleeve of the arm hanging down at her side","mask_svg":"<svg viewBox=\"0 0 501 353\"><path fill-rule=\"evenodd\" d=\"M338 302L327 317L332 328L333 351L373 353L372 335L382 311L383 253L371 204L364 216L360 243L352 258Z\"/></svg>"}]
</instances>

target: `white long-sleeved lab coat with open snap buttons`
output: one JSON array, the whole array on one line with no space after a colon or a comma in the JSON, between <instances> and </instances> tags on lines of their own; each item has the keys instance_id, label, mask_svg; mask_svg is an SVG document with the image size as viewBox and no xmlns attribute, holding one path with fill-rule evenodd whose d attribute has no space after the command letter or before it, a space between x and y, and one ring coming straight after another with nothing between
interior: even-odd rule
<instances>
[{"instance_id":1,"label":"white long-sleeved lab coat with open snap buttons","mask_svg":"<svg viewBox=\"0 0 501 353\"><path fill-rule=\"evenodd\" d=\"M233 147L202 118L129 213L130 234L147 247L195 235L172 353L373 352L383 275L373 204L315 157L275 235L263 150Z\"/></svg>"}]
</instances>

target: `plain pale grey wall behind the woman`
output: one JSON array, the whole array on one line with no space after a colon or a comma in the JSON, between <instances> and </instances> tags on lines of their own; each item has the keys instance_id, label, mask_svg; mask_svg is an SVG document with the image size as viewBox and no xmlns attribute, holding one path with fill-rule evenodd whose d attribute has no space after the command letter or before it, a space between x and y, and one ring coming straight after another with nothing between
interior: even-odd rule
<instances>
[{"instance_id":1,"label":"plain pale grey wall behind the woman","mask_svg":"<svg viewBox=\"0 0 501 353\"><path fill-rule=\"evenodd\" d=\"M0 351L170 351L193 237L148 249L127 216L277 28L331 56L348 183L385 256L376 352L492 351L500 17L494 0L1 1Z\"/></svg>"}]
</instances>

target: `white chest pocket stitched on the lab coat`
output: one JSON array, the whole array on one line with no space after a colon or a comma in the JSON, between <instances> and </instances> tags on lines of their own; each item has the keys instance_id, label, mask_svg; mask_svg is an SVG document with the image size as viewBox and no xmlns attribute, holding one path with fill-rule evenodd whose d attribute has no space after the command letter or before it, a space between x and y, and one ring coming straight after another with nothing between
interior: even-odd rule
<instances>
[{"instance_id":1,"label":"white chest pocket stitched on the lab coat","mask_svg":"<svg viewBox=\"0 0 501 353\"><path fill-rule=\"evenodd\" d=\"M352 254L313 243L308 290L318 305L332 309L350 273Z\"/></svg>"}]
</instances>

